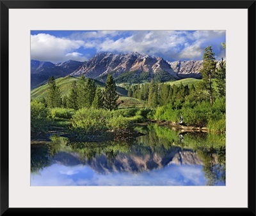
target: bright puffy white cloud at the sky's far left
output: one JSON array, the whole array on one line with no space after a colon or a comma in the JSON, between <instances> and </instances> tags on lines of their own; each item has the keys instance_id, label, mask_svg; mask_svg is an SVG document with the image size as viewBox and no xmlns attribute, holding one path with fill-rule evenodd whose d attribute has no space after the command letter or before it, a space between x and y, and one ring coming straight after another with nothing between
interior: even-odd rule
<instances>
[{"instance_id":1,"label":"bright puffy white cloud at the sky's far left","mask_svg":"<svg viewBox=\"0 0 256 216\"><path fill-rule=\"evenodd\" d=\"M63 62L69 60L72 54L73 60L83 59L81 55L75 55L84 41L56 38L50 34L31 35L31 59L39 61ZM76 57L78 59L76 59Z\"/></svg>"}]
</instances>

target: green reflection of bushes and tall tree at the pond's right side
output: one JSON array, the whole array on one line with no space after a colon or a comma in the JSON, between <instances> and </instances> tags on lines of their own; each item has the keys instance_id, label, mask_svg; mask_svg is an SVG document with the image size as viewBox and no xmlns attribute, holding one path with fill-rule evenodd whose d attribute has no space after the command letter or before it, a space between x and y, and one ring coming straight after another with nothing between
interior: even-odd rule
<instances>
[{"instance_id":1,"label":"green reflection of bushes and tall tree at the pond's right side","mask_svg":"<svg viewBox=\"0 0 256 216\"><path fill-rule=\"evenodd\" d=\"M180 141L182 134L182 142ZM155 146L164 144L166 149L172 145L179 145L181 148L190 148L197 152L204 162L203 171L207 179L207 185L216 185L218 182L225 183L226 148L225 134L212 133L177 133L166 127L150 126L148 136L140 138L144 145ZM154 145L152 146L152 142ZM156 149L154 149L156 150ZM159 149L158 149L159 150ZM163 152L164 154L164 152Z\"/></svg>"}]
</instances>

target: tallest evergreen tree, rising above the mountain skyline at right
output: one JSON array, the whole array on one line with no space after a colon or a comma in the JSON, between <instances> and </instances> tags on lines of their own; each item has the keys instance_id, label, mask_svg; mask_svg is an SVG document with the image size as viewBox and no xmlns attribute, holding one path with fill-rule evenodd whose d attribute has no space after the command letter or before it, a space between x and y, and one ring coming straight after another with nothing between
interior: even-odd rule
<instances>
[{"instance_id":1,"label":"tallest evergreen tree, rising above the mountain skyline at right","mask_svg":"<svg viewBox=\"0 0 256 216\"><path fill-rule=\"evenodd\" d=\"M211 46L205 48L203 60L203 67L200 71L202 74L202 88L207 90L209 94L210 103L212 105L214 90L212 87L212 77L214 76L214 73L216 71L216 61Z\"/></svg>"}]
</instances>

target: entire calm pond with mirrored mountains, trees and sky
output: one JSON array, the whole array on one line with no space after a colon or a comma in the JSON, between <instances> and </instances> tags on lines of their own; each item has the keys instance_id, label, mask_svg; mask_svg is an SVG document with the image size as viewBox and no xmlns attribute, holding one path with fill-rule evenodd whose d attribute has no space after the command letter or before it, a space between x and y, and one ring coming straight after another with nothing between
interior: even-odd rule
<instances>
[{"instance_id":1,"label":"entire calm pond with mirrored mountains, trees and sky","mask_svg":"<svg viewBox=\"0 0 256 216\"><path fill-rule=\"evenodd\" d=\"M225 134L150 124L130 141L31 145L31 185L225 185Z\"/></svg>"}]
</instances>

